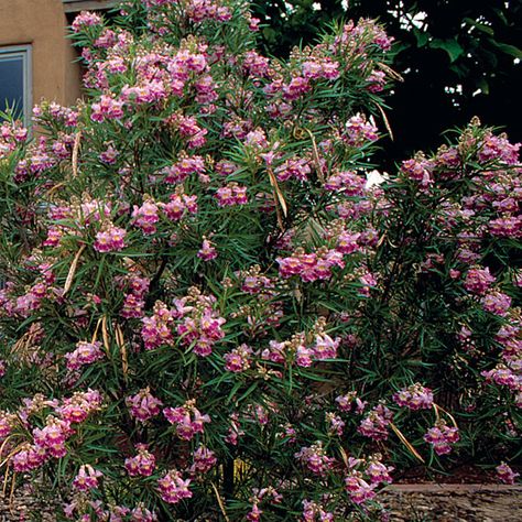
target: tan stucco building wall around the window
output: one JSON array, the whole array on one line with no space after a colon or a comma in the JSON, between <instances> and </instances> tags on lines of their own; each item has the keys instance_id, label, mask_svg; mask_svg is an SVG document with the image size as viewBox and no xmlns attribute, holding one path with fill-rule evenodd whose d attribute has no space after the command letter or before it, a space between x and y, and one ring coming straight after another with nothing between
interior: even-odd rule
<instances>
[{"instance_id":1,"label":"tan stucco building wall around the window","mask_svg":"<svg viewBox=\"0 0 522 522\"><path fill-rule=\"evenodd\" d=\"M72 105L80 96L76 52L62 0L0 0L0 46L32 45L32 101Z\"/></svg>"}]
</instances>

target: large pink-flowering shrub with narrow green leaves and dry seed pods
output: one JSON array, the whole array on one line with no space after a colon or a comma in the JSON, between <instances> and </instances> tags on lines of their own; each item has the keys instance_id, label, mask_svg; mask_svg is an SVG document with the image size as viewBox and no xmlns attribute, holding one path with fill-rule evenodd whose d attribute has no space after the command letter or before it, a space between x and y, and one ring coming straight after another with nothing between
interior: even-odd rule
<instances>
[{"instance_id":1,"label":"large pink-flowering shrub with narrow green leaves and dry seed pods","mask_svg":"<svg viewBox=\"0 0 522 522\"><path fill-rule=\"evenodd\" d=\"M472 122L372 185L382 28L257 29L81 13L88 99L1 127L0 463L58 520L379 518L482 447L515 478L518 145Z\"/></svg>"}]
</instances>

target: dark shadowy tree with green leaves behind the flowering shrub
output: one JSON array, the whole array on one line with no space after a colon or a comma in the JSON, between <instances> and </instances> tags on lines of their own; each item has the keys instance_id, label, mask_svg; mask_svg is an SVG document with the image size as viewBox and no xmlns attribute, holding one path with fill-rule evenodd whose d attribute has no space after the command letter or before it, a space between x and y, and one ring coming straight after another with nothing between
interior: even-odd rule
<instances>
[{"instance_id":1,"label":"dark shadowy tree with green leaves behind the flowering shrub","mask_svg":"<svg viewBox=\"0 0 522 522\"><path fill-rule=\"evenodd\" d=\"M334 20L378 18L396 40L405 81L390 100L390 163L434 146L443 129L477 115L522 139L519 116L522 2L503 0L273 0L258 2L267 52L285 55Z\"/></svg>"}]
</instances>

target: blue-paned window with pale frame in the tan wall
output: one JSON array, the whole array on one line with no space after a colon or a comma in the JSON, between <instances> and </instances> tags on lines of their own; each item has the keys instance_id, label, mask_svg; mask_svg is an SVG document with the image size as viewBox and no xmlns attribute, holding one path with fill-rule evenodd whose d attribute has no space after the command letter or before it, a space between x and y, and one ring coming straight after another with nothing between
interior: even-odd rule
<instances>
[{"instance_id":1,"label":"blue-paned window with pale frame in the tan wall","mask_svg":"<svg viewBox=\"0 0 522 522\"><path fill-rule=\"evenodd\" d=\"M31 119L31 45L0 47L0 110L14 109L25 126Z\"/></svg>"}]
</instances>

